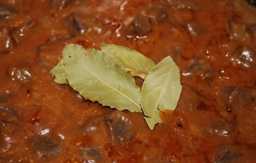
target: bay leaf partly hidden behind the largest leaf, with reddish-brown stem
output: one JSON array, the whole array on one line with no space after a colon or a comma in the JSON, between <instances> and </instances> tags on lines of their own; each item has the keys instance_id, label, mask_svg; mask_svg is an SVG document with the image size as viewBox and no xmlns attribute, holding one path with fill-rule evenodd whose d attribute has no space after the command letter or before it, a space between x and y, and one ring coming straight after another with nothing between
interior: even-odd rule
<instances>
[{"instance_id":1,"label":"bay leaf partly hidden behind the largest leaf, with reddish-brown stem","mask_svg":"<svg viewBox=\"0 0 256 163\"><path fill-rule=\"evenodd\" d=\"M123 66L131 76L142 79L155 67L155 63L136 50L114 44L101 45L102 52L117 59L117 64Z\"/></svg>"}]
</instances>

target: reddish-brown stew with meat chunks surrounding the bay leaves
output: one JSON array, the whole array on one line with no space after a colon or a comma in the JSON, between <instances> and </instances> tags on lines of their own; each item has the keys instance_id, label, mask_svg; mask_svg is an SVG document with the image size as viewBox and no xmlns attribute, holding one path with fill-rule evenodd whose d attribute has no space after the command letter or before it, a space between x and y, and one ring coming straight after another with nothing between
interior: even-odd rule
<instances>
[{"instance_id":1,"label":"reddish-brown stew with meat chunks surrounding the bay leaves","mask_svg":"<svg viewBox=\"0 0 256 163\"><path fill-rule=\"evenodd\" d=\"M254 163L255 4L1 0L0 163ZM171 56L180 68L177 107L151 130L143 113L57 84L49 72L70 43L125 46L155 64Z\"/></svg>"}]
</instances>

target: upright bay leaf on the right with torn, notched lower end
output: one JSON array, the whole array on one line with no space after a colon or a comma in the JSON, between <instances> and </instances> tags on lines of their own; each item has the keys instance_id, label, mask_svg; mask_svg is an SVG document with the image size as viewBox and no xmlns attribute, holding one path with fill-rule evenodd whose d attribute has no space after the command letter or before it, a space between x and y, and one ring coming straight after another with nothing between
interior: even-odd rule
<instances>
[{"instance_id":1,"label":"upright bay leaf on the right with torn, notched lower end","mask_svg":"<svg viewBox=\"0 0 256 163\"><path fill-rule=\"evenodd\" d=\"M140 105L150 129L162 123L160 111L174 110L180 98L180 70L170 56L148 73L140 96Z\"/></svg>"}]
</instances>

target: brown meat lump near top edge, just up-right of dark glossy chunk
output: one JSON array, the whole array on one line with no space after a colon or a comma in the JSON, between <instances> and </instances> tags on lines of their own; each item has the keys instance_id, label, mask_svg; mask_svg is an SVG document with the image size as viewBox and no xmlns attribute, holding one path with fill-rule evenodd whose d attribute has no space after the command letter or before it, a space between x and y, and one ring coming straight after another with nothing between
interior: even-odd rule
<instances>
[{"instance_id":1,"label":"brown meat lump near top edge, just up-right of dark glossy chunk","mask_svg":"<svg viewBox=\"0 0 256 163\"><path fill-rule=\"evenodd\" d=\"M168 11L163 6L155 6L145 11L145 15L149 16L155 23L166 20L169 17Z\"/></svg>"}]
</instances>

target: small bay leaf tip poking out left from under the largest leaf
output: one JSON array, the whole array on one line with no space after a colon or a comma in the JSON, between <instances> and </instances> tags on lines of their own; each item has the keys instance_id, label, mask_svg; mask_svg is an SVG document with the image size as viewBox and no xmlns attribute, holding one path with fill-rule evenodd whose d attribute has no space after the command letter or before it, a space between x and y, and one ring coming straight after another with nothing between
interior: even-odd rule
<instances>
[{"instance_id":1,"label":"small bay leaf tip poking out left from under the largest leaf","mask_svg":"<svg viewBox=\"0 0 256 163\"><path fill-rule=\"evenodd\" d=\"M50 73L52 75L55 75L54 81L58 84L67 84L67 79L65 76L65 66L63 63L63 59L59 61L59 63L52 69L50 70Z\"/></svg>"}]
</instances>

